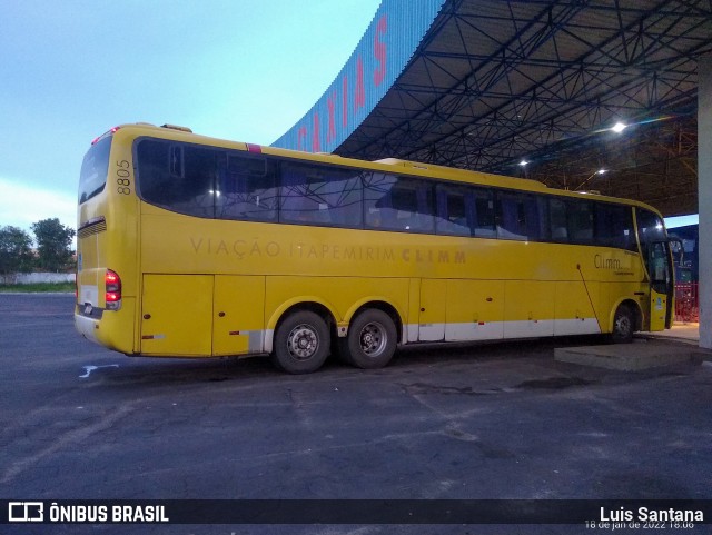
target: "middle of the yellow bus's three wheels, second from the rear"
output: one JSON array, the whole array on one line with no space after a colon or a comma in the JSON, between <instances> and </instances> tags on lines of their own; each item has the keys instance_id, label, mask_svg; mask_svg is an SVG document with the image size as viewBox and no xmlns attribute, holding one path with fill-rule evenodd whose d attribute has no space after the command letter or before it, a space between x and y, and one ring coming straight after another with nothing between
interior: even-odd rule
<instances>
[{"instance_id":1,"label":"middle of the yellow bus's three wheels, second from the rear","mask_svg":"<svg viewBox=\"0 0 712 535\"><path fill-rule=\"evenodd\" d=\"M383 368L396 350L396 326L383 310L364 310L352 321L347 337L339 341L343 356L354 366Z\"/></svg>"}]
</instances>

